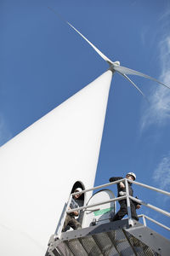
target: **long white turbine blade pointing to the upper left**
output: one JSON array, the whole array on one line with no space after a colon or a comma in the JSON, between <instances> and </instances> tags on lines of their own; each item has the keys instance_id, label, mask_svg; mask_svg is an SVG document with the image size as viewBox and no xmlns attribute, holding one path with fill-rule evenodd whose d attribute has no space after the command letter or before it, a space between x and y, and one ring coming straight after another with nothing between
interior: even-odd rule
<instances>
[{"instance_id":1,"label":"long white turbine blade pointing to the upper left","mask_svg":"<svg viewBox=\"0 0 170 256\"><path fill-rule=\"evenodd\" d=\"M54 12L55 15L57 15L59 17L59 19L64 20L56 11L54 11L54 9L48 7L48 9L52 10ZM88 44L90 44L94 50L100 55L100 57L102 57L102 59L104 59L105 61L107 61L109 63L109 65L111 65L113 63L113 61L111 61L108 57L106 57L97 47L94 46L94 44L92 44L87 38L85 38L81 32L79 32L76 27L72 26L71 23L69 23L68 21L64 20L69 26L71 26L72 29L74 29L84 40L86 40L88 42Z\"/></svg>"}]
</instances>

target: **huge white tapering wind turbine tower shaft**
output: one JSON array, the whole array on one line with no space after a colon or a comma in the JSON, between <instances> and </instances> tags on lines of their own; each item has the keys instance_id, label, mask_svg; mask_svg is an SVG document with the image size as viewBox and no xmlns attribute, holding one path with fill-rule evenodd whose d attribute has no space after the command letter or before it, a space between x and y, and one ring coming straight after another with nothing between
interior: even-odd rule
<instances>
[{"instance_id":1,"label":"huge white tapering wind turbine tower shaft","mask_svg":"<svg viewBox=\"0 0 170 256\"><path fill-rule=\"evenodd\" d=\"M0 148L1 255L44 255L72 185L94 185L111 76L102 74Z\"/></svg>"}]
</instances>

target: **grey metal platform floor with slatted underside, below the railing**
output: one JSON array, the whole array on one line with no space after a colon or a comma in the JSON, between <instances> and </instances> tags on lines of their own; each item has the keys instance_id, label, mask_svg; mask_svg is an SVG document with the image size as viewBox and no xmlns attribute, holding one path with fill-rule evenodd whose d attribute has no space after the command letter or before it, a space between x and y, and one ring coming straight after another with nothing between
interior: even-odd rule
<instances>
[{"instance_id":1,"label":"grey metal platform floor with slatted underside, below the railing","mask_svg":"<svg viewBox=\"0 0 170 256\"><path fill-rule=\"evenodd\" d=\"M52 236L46 256L168 256L170 241L127 219Z\"/></svg>"}]
</instances>

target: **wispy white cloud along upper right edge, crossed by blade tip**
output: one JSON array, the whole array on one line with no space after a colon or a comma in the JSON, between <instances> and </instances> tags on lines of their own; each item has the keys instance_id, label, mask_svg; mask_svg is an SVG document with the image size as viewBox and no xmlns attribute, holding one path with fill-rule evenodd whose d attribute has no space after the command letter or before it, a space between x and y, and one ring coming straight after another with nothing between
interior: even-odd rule
<instances>
[{"instance_id":1,"label":"wispy white cloud along upper right edge, crossed by blade tip","mask_svg":"<svg viewBox=\"0 0 170 256\"><path fill-rule=\"evenodd\" d=\"M169 5L169 4L168 4ZM156 38L161 38L159 49L159 62L161 73L159 80L170 86L170 11L169 8L160 15L161 31L156 32ZM170 120L170 90L163 86L153 87L150 91L150 105L144 109L141 130L150 125L165 125Z\"/></svg>"}]
</instances>

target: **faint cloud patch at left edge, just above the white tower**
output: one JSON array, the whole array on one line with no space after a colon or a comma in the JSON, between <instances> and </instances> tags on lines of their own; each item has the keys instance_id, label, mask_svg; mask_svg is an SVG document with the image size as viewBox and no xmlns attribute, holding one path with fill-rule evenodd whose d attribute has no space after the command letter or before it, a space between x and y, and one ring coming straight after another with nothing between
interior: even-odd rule
<instances>
[{"instance_id":1,"label":"faint cloud patch at left edge, just above the white tower","mask_svg":"<svg viewBox=\"0 0 170 256\"><path fill-rule=\"evenodd\" d=\"M3 114L0 113L0 146L6 143L13 137L11 131L8 130L8 125L3 118Z\"/></svg>"}]
</instances>

